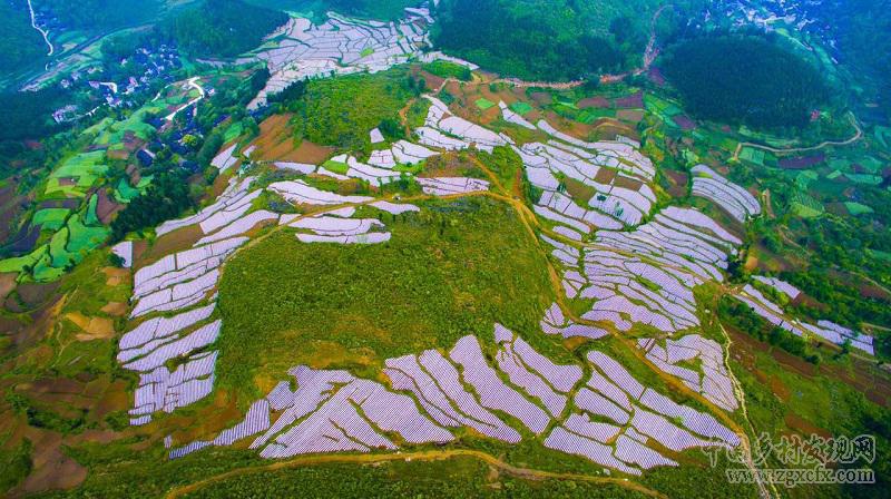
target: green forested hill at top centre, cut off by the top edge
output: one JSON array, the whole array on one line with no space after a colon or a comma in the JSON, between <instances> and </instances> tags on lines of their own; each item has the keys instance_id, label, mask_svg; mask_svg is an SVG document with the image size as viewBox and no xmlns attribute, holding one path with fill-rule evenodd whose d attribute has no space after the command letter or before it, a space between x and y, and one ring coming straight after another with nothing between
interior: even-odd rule
<instances>
[{"instance_id":1,"label":"green forested hill at top centre, cut off by the top edge","mask_svg":"<svg viewBox=\"0 0 891 499\"><path fill-rule=\"evenodd\" d=\"M508 76L586 78L638 60L657 6L637 0L443 0L434 42Z\"/></svg>"}]
</instances>

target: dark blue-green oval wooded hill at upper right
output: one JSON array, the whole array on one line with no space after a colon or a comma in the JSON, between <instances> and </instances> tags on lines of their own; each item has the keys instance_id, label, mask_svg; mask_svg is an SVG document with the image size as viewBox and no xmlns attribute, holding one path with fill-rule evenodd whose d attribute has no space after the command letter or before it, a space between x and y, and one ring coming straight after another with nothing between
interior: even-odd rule
<instances>
[{"instance_id":1,"label":"dark blue-green oval wooded hill at upper right","mask_svg":"<svg viewBox=\"0 0 891 499\"><path fill-rule=\"evenodd\" d=\"M686 107L714 121L800 127L828 98L813 67L756 37L686 40L670 50L663 65Z\"/></svg>"}]
</instances>

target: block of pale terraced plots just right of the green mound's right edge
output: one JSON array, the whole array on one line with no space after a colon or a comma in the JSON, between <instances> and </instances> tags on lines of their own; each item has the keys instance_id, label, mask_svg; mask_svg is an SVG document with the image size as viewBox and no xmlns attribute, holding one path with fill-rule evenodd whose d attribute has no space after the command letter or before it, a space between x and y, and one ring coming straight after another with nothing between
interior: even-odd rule
<instances>
[{"instance_id":1,"label":"block of pale terraced plots just right of the green mound's right edge","mask_svg":"<svg viewBox=\"0 0 891 499\"><path fill-rule=\"evenodd\" d=\"M699 324L693 287L723 281L721 270L740 244L702 213L675 207L630 233L599 231L598 247L584 252L542 238L564 267L567 296L595 300L584 319L669 333Z\"/></svg>"}]
</instances>

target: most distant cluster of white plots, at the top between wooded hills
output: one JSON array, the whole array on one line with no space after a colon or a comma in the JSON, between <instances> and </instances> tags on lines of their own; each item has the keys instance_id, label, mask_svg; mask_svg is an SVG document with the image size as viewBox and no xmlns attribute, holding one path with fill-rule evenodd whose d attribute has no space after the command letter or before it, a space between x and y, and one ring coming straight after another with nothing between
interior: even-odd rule
<instances>
[{"instance_id":1,"label":"most distant cluster of white plots, at the top between wooded hills","mask_svg":"<svg viewBox=\"0 0 891 499\"><path fill-rule=\"evenodd\" d=\"M420 55L427 45L425 9L408 13L404 20L390 23L365 23L332 17L319 26L309 19L292 18L270 36L271 47L239 62L260 60L272 77L266 87L248 105L263 106L271 94L294 81L330 75L378 72ZM273 40L275 38L275 40Z\"/></svg>"}]
</instances>

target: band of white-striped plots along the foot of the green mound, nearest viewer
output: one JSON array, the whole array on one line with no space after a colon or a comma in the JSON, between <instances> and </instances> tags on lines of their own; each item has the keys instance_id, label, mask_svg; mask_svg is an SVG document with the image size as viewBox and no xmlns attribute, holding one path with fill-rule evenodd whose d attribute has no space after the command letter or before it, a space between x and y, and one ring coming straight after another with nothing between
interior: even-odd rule
<instances>
[{"instance_id":1,"label":"band of white-striped plots along the foot of the green mound, nearest viewer","mask_svg":"<svg viewBox=\"0 0 891 499\"><path fill-rule=\"evenodd\" d=\"M484 353L492 349L495 361ZM657 449L740 444L712 415L643 385L603 352L589 352L587 361L591 375L579 385L578 365L554 363L496 323L495 345L466 335L448 354L425 350L388 359L383 373L390 387L345 370L297 365L287 371L296 390L280 382L251 404L242 422L175 448L169 457L244 439L267 459L395 451L451 442L462 428L517 444L523 437L513 424L521 424L546 448L639 476L678 466Z\"/></svg>"}]
</instances>

